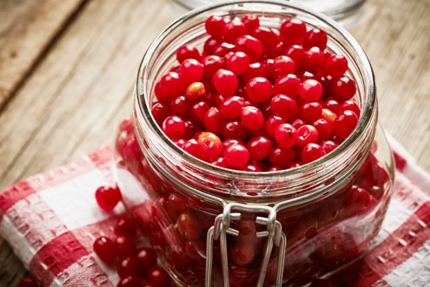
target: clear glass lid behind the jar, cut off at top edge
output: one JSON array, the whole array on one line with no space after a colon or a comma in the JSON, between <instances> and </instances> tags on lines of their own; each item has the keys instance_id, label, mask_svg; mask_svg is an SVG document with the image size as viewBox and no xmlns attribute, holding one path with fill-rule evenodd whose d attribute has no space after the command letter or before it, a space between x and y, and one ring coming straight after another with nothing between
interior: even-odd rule
<instances>
[{"instance_id":1,"label":"clear glass lid behind the jar, cut off at top edge","mask_svg":"<svg viewBox=\"0 0 430 287\"><path fill-rule=\"evenodd\" d=\"M198 8L200 6L214 4L225 0L173 0L187 10ZM300 3L312 10L322 12L332 17L336 21L350 19L365 0L289 0L294 3Z\"/></svg>"}]
</instances>

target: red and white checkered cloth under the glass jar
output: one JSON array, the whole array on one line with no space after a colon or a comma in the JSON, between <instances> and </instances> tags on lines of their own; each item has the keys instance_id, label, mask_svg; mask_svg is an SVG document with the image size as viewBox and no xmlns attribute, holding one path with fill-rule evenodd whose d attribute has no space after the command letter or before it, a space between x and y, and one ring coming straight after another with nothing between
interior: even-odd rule
<instances>
[{"instance_id":1,"label":"red and white checkered cloth under the glass jar","mask_svg":"<svg viewBox=\"0 0 430 287\"><path fill-rule=\"evenodd\" d=\"M336 274L339 286L430 286L430 175L402 146L395 150L395 191L372 251ZM92 251L113 236L114 214L94 191L112 184L111 148L18 182L0 195L0 234L43 286L116 286L117 273Z\"/></svg>"}]
</instances>

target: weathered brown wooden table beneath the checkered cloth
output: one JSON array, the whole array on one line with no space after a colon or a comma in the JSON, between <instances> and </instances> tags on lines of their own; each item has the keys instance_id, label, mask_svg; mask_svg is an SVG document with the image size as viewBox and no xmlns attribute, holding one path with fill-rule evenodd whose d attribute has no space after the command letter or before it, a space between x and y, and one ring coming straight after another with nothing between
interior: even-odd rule
<instances>
[{"instance_id":1,"label":"weathered brown wooden table beneath the checkered cloth","mask_svg":"<svg viewBox=\"0 0 430 287\"><path fill-rule=\"evenodd\" d=\"M0 190L112 140L167 0L0 0ZM384 128L430 169L430 1L369 0L350 28ZM25 274L0 239L0 286Z\"/></svg>"}]
</instances>

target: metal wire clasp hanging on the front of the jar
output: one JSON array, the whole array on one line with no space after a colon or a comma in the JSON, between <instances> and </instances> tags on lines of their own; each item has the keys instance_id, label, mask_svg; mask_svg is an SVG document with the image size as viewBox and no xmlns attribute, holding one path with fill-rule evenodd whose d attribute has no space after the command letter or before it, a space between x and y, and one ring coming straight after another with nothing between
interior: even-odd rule
<instances>
[{"instance_id":1,"label":"metal wire clasp hanging on the front of the jar","mask_svg":"<svg viewBox=\"0 0 430 287\"><path fill-rule=\"evenodd\" d=\"M259 272L259 278L257 280L257 287L262 287L264 284L264 278L266 277L267 266L270 259L270 254L273 250L273 245L279 247L275 286L282 286L286 236L284 232L282 232L281 223L276 220L275 209L264 205L243 205L241 203L228 203L225 205L223 213L216 216L214 226L210 227L207 231L205 287L211 287L214 241L218 240L220 241L221 246L221 266L223 269L224 287L230 287L228 276L227 234L239 236L239 231L230 227L230 223L232 220L241 219L241 214L239 212L232 211L246 211L252 213L268 214L266 218L257 216L255 220L255 223L259 225L266 225L266 230L263 232L257 232L256 236L259 238L267 237L264 257L263 261L261 262L261 269Z\"/></svg>"}]
</instances>

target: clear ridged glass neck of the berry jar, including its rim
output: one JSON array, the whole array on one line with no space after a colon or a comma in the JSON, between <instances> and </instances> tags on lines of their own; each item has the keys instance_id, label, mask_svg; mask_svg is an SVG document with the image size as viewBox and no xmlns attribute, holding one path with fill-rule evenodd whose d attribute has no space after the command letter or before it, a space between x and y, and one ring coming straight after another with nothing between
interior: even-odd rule
<instances>
[{"instance_id":1,"label":"clear ridged glass neck of the berry jar, including its rim","mask_svg":"<svg viewBox=\"0 0 430 287\"><path fill-rule=\"evenodd\" d=\"M342 53L350 63L348 73L357 85L356 101L363 111L356 129L336 150L304 166L286 171L249 173L221 168L196 159L164 136L150 113L155 82L175 61L183 44L202 46L205 19L217 14L235 17L264 10L262 25L278 25L282 17L298 17L309 26L323 28L328 49ZM285 15L286 13L286 15ZM281 18L280 15L282 15ZM148 162L179 189L197 197L222 202L276 204L288 198L315 198L338 188L357 171L370 150L377 125L375 79L361 46L341 26L325 15L309 12L286 1L236 1L193 10L173 22L148 48L142 60L135 91L136 133Z\"/></svg>"}]
</instances>

